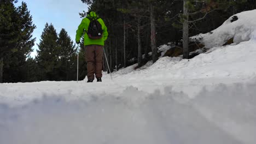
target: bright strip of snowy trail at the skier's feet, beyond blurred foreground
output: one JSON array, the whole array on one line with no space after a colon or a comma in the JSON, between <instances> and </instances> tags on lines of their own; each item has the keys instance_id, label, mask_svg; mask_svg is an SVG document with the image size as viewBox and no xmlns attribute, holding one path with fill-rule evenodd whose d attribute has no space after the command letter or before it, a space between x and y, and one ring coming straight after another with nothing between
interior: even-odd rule
<instances>
[{"instance_id":1,"label":"bright strip of snowy trail at the skier's feet, beyond blurred foreground","mask_svg":"<svg viewBox=\"0 0 256 144\"><path fill-rule=\"evenodd\" d=\"M106 80L106 79L105 79ZM92 96L98 98L105 97L106 94L115 97L126 97L122 95L123 91L130 86L136 87L139 91L145 93L154 93L155 91L164 92L166 87L171 87L174 92L183 92L189 98L196 97L203 88L209 91L219 83L231 85L232 83L246 83L251 79L173 79L173 80L126 80L110 81L102 83L86 83L85 81L73 82L35 82L19 84L2 84L0 91L1 103L9 105L23 105L34 99L40 99L44 96L61 96L66 100L90 100ZM2 90L1 90L2 89ZM5 96L7 95L7 96ZM10 95L8 97L8 95Z\"/></svg>"}]
</instances>

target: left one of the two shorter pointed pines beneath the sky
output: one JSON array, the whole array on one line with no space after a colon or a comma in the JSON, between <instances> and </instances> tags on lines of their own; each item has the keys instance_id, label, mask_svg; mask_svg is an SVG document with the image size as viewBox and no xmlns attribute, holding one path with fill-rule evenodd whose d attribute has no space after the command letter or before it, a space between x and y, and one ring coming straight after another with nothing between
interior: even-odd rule
<instances>
[{"instance_id":1,"label":"left one of the two shorter pointed pines beneath the sky","mask_svg":"<svg viewBox=\"0 0 256 144\"><path fill-rule=\"evenodd\" d=\"M46 23L37 50L40 80L60 80L58 69L61 66L60 50L57 46L57 33L52 24Z\"/></svg>"}]
</instances>

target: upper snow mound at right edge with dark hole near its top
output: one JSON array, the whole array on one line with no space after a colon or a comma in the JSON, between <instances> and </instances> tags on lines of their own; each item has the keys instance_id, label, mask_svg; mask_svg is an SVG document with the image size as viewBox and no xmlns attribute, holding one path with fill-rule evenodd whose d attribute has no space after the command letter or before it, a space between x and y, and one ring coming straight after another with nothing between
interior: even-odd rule
<instances>
[{"instance_id":1,"label":"upper snow mound at right edge with dark hole near its top","mask_svg":"<svg viewBox=\"0 0 256 144\"><path fill-rule=\"evenodd\" d=\"M232 38L235 44L250 39L255 40L255 30L256 10L251 10L233 15L214 31L196 35L191 37L191 39L199 40L201 43L205 44L207 48L212 48L222 46Z\"/></svg>"}]
</instances>

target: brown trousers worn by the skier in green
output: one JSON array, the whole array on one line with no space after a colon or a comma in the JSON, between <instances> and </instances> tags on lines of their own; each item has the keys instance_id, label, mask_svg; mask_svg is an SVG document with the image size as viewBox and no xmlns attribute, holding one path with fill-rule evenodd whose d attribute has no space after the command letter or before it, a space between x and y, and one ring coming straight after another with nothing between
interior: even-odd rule
<instances>
[{"instance_id":1,"label":"brown trousers worn by the skier in green","mask_svg":"<svg viewBox=\"0 0 256 144\"><path fill-rule=\"evenodd\" d=\"M88 80L94 80L95 76L96 78L101 78L102 63L103 63L103 46L101 45L85 46L85 59L87 62Z\"/></svg>"}]
</instances>

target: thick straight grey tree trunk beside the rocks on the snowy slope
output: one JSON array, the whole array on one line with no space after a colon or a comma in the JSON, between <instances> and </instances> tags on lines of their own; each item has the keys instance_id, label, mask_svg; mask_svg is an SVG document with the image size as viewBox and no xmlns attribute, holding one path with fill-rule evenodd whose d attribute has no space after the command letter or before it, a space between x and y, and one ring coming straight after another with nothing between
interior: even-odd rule
<instances>
[{"instance_id":1,"label":"thick straight grey tree trunk beside the rocks on the snowy slope","mask_svg":"<svg viewBox=\"0 0 256 144\"><path fill-rule=\"evenodd\" d=\"M189 59L189 14L188 8L186 7L186 3L188 0L183 0L183 59Z\"/></svg>"}]
</instances>

